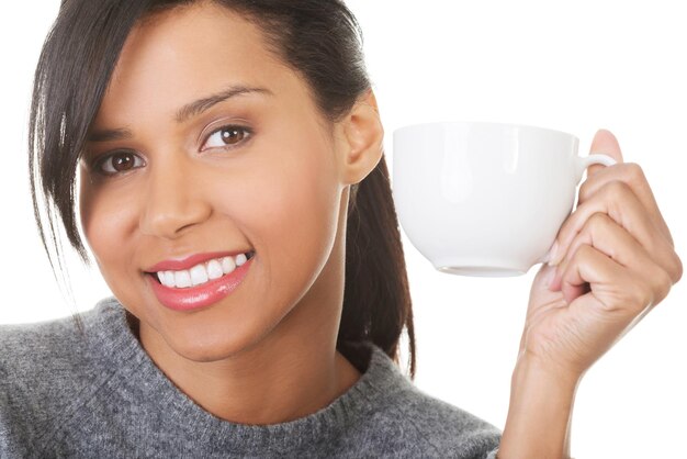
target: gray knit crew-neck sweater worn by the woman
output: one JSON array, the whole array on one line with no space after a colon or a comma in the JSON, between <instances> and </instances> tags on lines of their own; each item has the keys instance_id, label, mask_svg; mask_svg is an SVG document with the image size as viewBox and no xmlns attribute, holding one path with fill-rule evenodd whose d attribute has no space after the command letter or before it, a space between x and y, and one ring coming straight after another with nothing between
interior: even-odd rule
<instances>
[{"instance_id":1,"label":"gray knit crew-neck sweater worn by the woman","mask_svg":"<svg viewBox=\"0 0 687 459\"><path fill-rule=\"evenodd\" d=\"M155 366L113 299L0 327L0 458L494 458L499 433L417 390L372 347L327 407L270 426L219 419Z\"/></svg>"}]
</instances>

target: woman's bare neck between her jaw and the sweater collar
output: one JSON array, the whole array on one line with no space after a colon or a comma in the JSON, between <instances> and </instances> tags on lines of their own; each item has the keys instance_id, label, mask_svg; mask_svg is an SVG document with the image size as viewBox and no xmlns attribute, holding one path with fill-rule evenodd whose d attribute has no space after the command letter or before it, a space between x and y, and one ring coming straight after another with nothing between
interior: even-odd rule
<instances>
[{"instance_id":1,"label":"woman's bare neck between her jaw and the sweater collar","mask_svg":"<svg viewBox=\"0 0 687 459\"><path fill-rule=\"evenodd\" d=\"M315 413L346 392L359 377L334 348L307 343L273 345L281 351L260 345L216 362L168 359L165 355L154 360L207 412L251 425L278 424Z\"/></svg>"}]
</instances>

